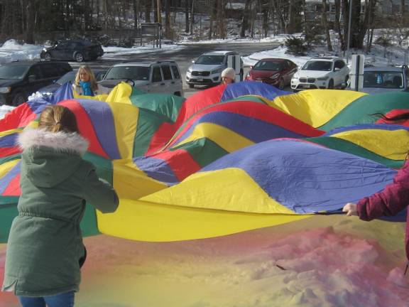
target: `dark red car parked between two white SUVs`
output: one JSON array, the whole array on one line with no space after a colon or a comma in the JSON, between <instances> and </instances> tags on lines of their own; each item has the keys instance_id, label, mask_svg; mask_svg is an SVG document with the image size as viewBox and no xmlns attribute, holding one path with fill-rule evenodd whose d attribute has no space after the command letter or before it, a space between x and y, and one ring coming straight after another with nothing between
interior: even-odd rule
<instances>
[{"instance_id":1,"label":"dark red car parked between two white SUVs","mask_svg":"<svg viewBox=\"0 0 409 307\"><path fill-rule=\"evenodd\" d=\"M290 85L291 78L297 70L298 66L290 60L265 58L259 60L247 72L246 80L268 83L283 90L286 85Z\"/></svg>"}]
</instances>

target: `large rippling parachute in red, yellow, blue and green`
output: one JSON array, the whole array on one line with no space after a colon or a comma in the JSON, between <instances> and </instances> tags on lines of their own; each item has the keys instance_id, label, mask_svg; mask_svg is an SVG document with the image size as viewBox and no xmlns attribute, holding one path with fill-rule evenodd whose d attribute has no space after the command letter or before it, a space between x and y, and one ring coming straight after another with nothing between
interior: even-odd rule
<instances>
[{"instance_id":1,"label":"large rippling parachute in red, yellow, blue and green","mask_svg":"<svg viewBox=\"0 0 409 307\"><path fill-rule=\"evenodd\" d=\"M405 112L409 93L290 93L258 82L219 85L188 99L121 83L99 97L68 85L0 120L0 241L17 214L16 136L47 104L75 112L84 156L114 185L119 210L87 207L85 235L197 239L339 213L391 183L409 128L374 114Z\"/></svg>"}]
</instances>

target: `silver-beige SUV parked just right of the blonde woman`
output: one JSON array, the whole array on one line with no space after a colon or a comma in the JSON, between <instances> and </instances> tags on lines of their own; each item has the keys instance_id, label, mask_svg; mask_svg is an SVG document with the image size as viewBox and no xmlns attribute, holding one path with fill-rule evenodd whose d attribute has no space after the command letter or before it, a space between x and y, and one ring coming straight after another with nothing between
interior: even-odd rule
<instances>
[{"instance_id":1,"label":"silver-beige SUV parked just right of the blonde woman","mask_svg":"<svg viewBox=\"0 0 409 307\"><path fill-rule=\"evenodd\" d=\"M146 93L165 93L182 96L182 79L175 61L125 62L109 68L99 85L108 89L121 81Z\"/></svg>"}]
</instances>

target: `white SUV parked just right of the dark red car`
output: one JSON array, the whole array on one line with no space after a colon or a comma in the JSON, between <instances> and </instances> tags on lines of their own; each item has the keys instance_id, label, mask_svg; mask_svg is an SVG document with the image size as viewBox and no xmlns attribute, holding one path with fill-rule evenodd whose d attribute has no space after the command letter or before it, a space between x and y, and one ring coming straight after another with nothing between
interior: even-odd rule
<instances>
[{"instance_id":1,"label":"white SUV parked just right of the dark red car","mask_svg":"<svg viewBox=\"0 0 409 307\"><path fill-rule=\"evenodd\" d=\"M291 79L291 90L347 87L349 68L342 58L312 58Z\"/></svg>"}]
</instances>

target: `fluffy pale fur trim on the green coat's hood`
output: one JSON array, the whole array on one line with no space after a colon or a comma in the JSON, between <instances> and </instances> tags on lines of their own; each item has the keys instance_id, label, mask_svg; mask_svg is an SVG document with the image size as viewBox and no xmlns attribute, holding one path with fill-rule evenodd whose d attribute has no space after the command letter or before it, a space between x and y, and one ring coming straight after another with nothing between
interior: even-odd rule
<instances>
[{"instance_id":1,"label":"fluffy pale fur trim on the green coat's hood","mask_svg":"<svg viewBox=\"0 0 409 307\"><path fill-rule=\"evenodd\" d=\"M46 146L58 152L74 151L83 156L88 149L88 141L80 134L67 132L50 132L44 129L25 129L18 136L21 149L34 146Z\"/></svg>"}]
</instances>

